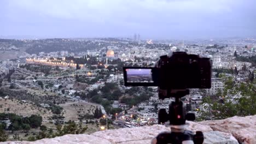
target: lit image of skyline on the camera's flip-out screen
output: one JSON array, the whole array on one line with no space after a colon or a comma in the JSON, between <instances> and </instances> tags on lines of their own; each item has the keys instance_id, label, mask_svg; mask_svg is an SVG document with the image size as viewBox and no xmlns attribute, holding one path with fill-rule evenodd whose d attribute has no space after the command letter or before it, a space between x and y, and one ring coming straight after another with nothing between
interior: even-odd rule
<instances>
[{"instance_id":1,"label":"lit image of skyline on the camera's flip-out screen","mask_svg":"<svg viewBox=\"0 0 256 144\"><path fill-rule=\"evenodd\" d=\"M127 82L153 83L151 69L126 69Z\"/></svg>"}]
</instances>

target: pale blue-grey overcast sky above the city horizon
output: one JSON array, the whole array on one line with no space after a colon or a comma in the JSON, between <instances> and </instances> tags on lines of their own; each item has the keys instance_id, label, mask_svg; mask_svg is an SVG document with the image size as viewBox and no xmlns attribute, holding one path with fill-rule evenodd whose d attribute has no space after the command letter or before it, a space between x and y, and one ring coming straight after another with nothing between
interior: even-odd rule
<instances>
[{"instance_id":1,"label":"pale blue-grey overcast sky above the city horizon","mask_svg":"<svg viewBox=\"0 0 256 144\"><path fill-rule=\"evenodd\" d=\"M1 0L0 36L256 37L255 0Z\"/></svg>"}]
</instances>

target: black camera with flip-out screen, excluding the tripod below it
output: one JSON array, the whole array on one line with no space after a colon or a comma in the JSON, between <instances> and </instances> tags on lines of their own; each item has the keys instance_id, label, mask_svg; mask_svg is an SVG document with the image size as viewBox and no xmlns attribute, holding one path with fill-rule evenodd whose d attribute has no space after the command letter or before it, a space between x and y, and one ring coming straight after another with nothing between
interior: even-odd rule
<instances>
[{"instance_id":1,"label":"black camera with flip-out screen, excluding the tripod below it","mask_svg":"<svg viewBox=\"0 0 256 144\"><path fill-rule=\"evenodd\" d=\"M161 56L154 68L124 67L124 84L158 86L160 99L177 97L174 89L211 88L211 67L210 58L173 52Z\"/></svg>"}]
</instances>

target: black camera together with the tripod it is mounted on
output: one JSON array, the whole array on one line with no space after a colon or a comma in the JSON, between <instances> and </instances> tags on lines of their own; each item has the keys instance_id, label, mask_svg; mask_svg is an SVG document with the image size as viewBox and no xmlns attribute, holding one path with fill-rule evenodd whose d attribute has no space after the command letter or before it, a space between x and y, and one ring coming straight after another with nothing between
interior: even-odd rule
<instances>
[{"instance_id":1,"label":"black camera together with the tripod it is mounted on","mask_svg":"<svg viewBox=\"0 0 256 144\"><path fill-rule=\"evenodd\" d=\"M187 113L181 98L189 94L189 88L211 88L212 64L210 58L173 52L169 57L161 56L154 68L124 67L125 86L158 86L159 99L174 97L169 111L160 109L158 123L170 121L170 131L156 136L152 143L203 143L203 134L193 134L186 120L194 121L194 113Z\"/></svg>"}]
</instances>

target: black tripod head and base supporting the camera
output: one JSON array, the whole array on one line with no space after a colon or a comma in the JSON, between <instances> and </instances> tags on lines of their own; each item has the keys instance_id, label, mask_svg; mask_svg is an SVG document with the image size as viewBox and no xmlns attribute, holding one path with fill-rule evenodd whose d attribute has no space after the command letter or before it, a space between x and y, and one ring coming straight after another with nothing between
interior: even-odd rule
<instances>
[{"instance_id":1,"label":"black tripod head and base supporting the camera","mask_svg":"<svg viewBox=\"0 0 256 144\"><path fill-rule=\"evenodd\" d=\"M188 126L185 121L195 120L195 114L187 113L185 105L181 101L181 98L187 94L189 94L188 89L170 93L171 97L175 97L175 101L172 101L169 105L169 113L167 113L165 109L159 110L158 123L162 124L170 121L169 126L171 127L171 131L164 131L158 134L158 136L152 140L152 143L203 143L202 131L196 131L196 134L193 134L192 131L185 130Z\"/></svg>"}]
</instances>

